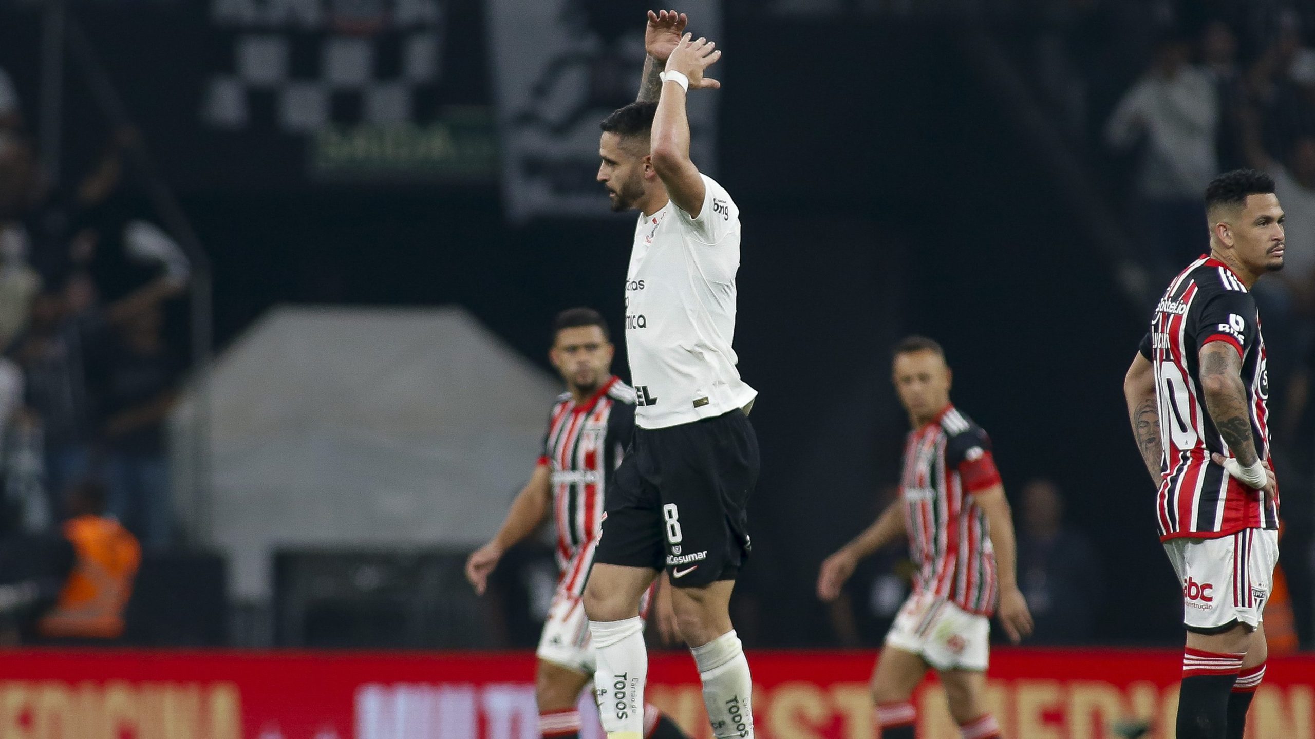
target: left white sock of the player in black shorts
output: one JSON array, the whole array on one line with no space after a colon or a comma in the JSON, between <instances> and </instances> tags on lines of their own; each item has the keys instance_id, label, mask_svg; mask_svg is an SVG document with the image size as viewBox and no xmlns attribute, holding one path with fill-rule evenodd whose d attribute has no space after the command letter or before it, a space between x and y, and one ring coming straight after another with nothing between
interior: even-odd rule
<instances>
[{"instance_id":1,"label":"left white sock of the player in black shorts","mask_svg":"<svg viewBox=\"0 0 1315 739\"><path fill-rule=\"evenodd\" d=\"M598 661L593 673L594 698L608 739L643 739L648 676L643 619L636 615L625 621L590 621L589 635Z\"/></svg>"}]
</instances>

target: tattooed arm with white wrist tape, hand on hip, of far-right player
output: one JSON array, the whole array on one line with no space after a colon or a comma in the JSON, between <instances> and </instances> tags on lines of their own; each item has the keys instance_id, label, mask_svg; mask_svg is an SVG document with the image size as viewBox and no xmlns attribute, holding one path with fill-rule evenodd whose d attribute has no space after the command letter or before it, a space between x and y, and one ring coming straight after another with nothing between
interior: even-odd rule
<instances>
[{"instance_id":1,"label":"tattooed arm with white wrist tape, hand on hip, of far-right player","mask_svg":"<svg viewBox=\"0 0 1315 739\"><path fill-rule=\"evenodd\" d=\"M1274 494L1273 473L1256 451L1256 438L1251 433L1251 404L1247 385L1241 381L1241 355L1228 342L1207 342L1201 347L1201 389L1206 394L1206 412L1215 429L1228 444L1232 458L1214 455L1228 473L1248 487L1264 490L1266 498Z\"/></svg>"}]
</instances>

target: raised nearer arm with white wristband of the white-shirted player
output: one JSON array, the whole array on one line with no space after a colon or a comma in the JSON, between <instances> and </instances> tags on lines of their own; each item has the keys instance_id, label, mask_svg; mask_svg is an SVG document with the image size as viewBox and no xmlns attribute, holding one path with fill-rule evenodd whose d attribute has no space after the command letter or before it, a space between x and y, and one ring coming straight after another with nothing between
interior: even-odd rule
<instances>
[{"instance_id":1,"label":"raised nearer arm with white wristband of the white-shirted player","mask_svg":"<svg viewBox=\"0 0 1315 739\"><path fill-rule=\"evenodd\" d=\"M677 208L697 218L704 209L706 187L698 167L689 159L689 117L685 112L686 84L690 89L721 87L704 76L704 70L721 58L705 38L690 41L686 33L667 59L667 82L658 99L652 128L652 163ZM681 79L684 78L684 79ZM688 80L688 83L685 83Z\"/></svg>"}]
</instances>

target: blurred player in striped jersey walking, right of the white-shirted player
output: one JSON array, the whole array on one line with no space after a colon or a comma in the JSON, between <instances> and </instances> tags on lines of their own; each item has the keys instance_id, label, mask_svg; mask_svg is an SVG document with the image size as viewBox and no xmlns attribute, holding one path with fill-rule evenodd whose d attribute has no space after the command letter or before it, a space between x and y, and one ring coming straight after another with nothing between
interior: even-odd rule
<instances>
[{"instance_id":1,"label":"blurred player in striped jersey walking, right of the white-shirted player","mask_svg":"<svg viewBox=\"0 0 1315 739\"><path fill-rule=\"evenodd\" d=\"M818 596L835 600L859 560L907 533L914 590L886 634L872 676L882 739L913 739L913 692L927 668L945 688L964 739L999 736L986 710L990 615L1013 642L1032 631L1014 571L1014 525L990 439L949 402L940 345L910 337L896 346L894 384L913 431L905 442L899 500L822 563Z\"/></svg>"}]
</instances>

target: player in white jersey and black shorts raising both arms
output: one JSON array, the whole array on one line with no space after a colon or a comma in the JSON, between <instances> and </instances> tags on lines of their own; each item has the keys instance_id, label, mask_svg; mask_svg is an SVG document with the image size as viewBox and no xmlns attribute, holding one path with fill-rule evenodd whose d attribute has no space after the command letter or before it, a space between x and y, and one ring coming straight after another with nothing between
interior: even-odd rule
<instances>
[{"instance_id":1,"label":"player in white jersey and black shorts raising both arms","mask_svg":"<svg viewBox=\"0 0 1315 739\"><path fill-rule=\"evenodd\" d=\"M753 735L748 661L729 611L759 471L747 414L756 392L731 348L740 222L730 193L689 159L685 96L718 87L704 70L721 53L682 36L684 22L648 14L640 99L602 122L598 146L613 209L639 210L625 284L636 429L584 594L609 739L640 736L648 659L639 601L663 569L713 734Z\"/></svg>"}]
</instances>

